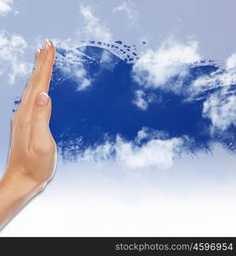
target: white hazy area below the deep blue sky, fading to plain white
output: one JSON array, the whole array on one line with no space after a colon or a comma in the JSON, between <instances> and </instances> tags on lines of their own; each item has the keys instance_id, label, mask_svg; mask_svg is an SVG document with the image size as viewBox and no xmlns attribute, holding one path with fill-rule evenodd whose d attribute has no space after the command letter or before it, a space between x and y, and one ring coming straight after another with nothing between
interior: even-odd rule
<instances>
[{"instance_id":1,"label":"white hazy area below the deep blue sky, fading to plain white","mask_svg":"<svg viewBox=\"0 0 236 256\"><path fill-rule=\"evenodd\" d=\"M235 157L183 158L156 173L60 163L1 236L235 236Z\"/></svg>"}]
</instances>

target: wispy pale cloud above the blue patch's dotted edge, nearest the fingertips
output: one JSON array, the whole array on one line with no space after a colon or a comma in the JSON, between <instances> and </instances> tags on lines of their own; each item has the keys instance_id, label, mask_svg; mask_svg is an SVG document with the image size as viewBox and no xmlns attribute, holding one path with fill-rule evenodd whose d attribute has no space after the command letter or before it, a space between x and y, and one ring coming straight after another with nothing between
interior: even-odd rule
<instances>
[{"instance_id":1,"label":"wispy pale cloud above the blue patch's dotted edge, nearest the fingertips","mask_svg":"<svg viewBox=\"0 0 236 256\"><path fill-rule=\"evenodd\" d=\"M101 19L95 16L91 6L80 5L80 14L83 15L85 22L84 28L78 31L78 37L83 39L94 39L101 41L112 41L112 33L101 22Z\"/></svg>"}]
</instances>

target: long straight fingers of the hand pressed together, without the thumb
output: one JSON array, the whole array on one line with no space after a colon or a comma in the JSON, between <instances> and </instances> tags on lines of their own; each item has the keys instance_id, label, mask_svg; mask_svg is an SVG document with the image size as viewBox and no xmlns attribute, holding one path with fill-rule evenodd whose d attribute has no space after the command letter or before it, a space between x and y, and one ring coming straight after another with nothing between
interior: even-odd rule
<instances>
[{"instance_id":1,"label":"long straight fingers of the hand pressed together, without the thumb","mask_svg":"<svg viewBox=\"0 0 236 256\"><path fill-rule=\"evenodd\" d=\"M55 47L47 41L44 48L37 54L37 61L32 78L29 80L26 91L22 97L18 110L24 111L28 118L31 118L32 108L37 95L44 91L48 93L49 83L55 61Z\"/></svg>"}]
</instances>

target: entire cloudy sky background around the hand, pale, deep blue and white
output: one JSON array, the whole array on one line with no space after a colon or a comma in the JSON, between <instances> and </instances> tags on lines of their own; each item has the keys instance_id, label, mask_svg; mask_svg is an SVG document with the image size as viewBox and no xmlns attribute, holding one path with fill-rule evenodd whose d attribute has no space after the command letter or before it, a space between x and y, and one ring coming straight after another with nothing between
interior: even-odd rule
<instances>
[{"instance_id":1,"label":"entire cloudy sky background around the hand, pale, deep blue and white","mask_svg":"<svg viewBox=\"0 0 236 256\"><path fill-rule=\"evenodd\" d=\"M62 153L83 148L76 163L60 159L49 189L20 212L5 234L55 234L62 216L50 223L46 212L52 216L63 208L71 220L60 230L62 236L217 235L213 220L235 213L234 7L233 1L0 1L2 170L14 99L22 94L35 49L45 38L58 48L51 129ZM136 44L132 52L140 59L126 63L114 51L83 48L81 40L89 39ZM170 221L171 206L176 221ZM225 210L210 219L222 206ZM22 231L20 222L30 216L34 223L38 211L49 228L38 224L36 230ZM91 211L95 214L86 217ZM126 224L124 230L116 224L110 228L109 212ZM136 216L141 230L135 230L132 212L141 212ZM152 217L146 227L147 214ZM171 222L172 229L155 215ZM187 223L195 221L193 230L187 223L180 230L186 216ZM103 226L96 225L101 219ZM232 235L233 225L221 225L221 231L219 236Z\"/></svg>"}]
</instances>

